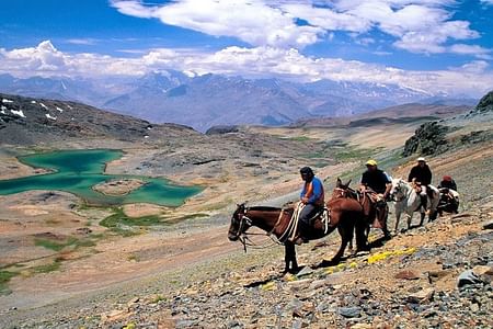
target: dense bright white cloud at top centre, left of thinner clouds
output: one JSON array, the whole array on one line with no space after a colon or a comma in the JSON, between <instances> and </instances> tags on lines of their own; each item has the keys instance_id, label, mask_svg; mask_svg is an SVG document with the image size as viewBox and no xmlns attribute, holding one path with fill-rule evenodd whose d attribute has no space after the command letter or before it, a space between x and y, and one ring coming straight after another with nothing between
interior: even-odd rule
<instances>
[{"instance_id":1,"label":"dense bright white cloud at top centre, left of thinner clouds","mask_svg":"<svg viewBox=\"0 0 493 329\"><path fill-rule=\"evenodd\" d=\"M254 46L303 47L324 32L317 26L298 26L294 16L260 0L182 0L161 7L126 0L112 5L124 14L154 18L214 36L233 36Z\"/></svg>"}]
</instances>

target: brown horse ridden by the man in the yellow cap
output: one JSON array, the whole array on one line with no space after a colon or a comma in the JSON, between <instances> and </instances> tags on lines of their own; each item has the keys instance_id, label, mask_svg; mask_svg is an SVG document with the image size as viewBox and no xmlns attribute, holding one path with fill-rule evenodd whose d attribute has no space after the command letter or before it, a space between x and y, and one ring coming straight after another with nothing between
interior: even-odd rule
<instances>
[{"instance_id":1,"label":"brown horse ridden by the man in the yellow cap","mask_svg":"<svg viewBox=\"0 0 493 329\"><path fill-rule=\"evenodd\" d=\"M365 214L365 230L366 239L368 239L369 230L371 227L380 228L383 231L385 238L390 237L390 232L387 229L387 218L389 214L389 206L385 201L383 203L374 202L371 200L371 192L364 191L359 192L349 188L351 180L347 183L343 183L340 178L335 183L335 189L332 192L332 198L337 197L349 197L358 201L363 206L363 212Z\"/></svg>"}]
</instances>

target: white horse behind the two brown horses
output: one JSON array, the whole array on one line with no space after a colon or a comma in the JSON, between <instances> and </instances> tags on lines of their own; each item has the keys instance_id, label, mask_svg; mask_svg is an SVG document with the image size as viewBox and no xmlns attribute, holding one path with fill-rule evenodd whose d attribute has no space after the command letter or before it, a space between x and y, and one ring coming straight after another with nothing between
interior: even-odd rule
<instances>
[{"instance_id":1,"label":"white horse behind the two brown horses","mask_svg":"<svg viewBox=\"0 0 493 329\"><path fill-rule=\"evenodd\" d=\"M437 206L439 202L438 190L433 185L427 185L431 194L434 197L428 197L429 215L428 219L434 220L437 214ZM425 209L423 209L421 204L421 196L414 189L414 186L402 179L392 180L392 189L390 190L390 196L395 201L395 231L399 229L399 220L401 219L401 214L404 213L408 216L408 229L411 228L411 222L413 218L413 213L420 211L421 220L420 226L423 225L425 218Z\"/></svg>"}]
</instances>

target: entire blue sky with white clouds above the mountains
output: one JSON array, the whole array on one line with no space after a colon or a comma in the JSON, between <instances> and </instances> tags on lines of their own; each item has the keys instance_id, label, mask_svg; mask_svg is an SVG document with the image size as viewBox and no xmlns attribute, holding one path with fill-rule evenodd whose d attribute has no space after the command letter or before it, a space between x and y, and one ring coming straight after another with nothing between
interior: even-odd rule
<instances>
[{"instance_id":1,"label":"entire blue sky with white clouds above the mountains","mask_svg":"<svg viewBox=\"0 0 493 329\"><path fill-rule=\"evenodd\" d=\"M493 89L493 0L3 0L0 72Z\"/></svg>"}]
</instances>

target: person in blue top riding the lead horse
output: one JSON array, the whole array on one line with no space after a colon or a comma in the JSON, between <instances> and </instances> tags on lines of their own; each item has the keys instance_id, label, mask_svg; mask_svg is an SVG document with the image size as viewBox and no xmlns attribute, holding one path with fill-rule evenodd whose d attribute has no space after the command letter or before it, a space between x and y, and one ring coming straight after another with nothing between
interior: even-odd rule
<instances>
[{"instance_id":1,"label":"person in blue top riding the lead horse","mask_svg":"<svg viewBox=\"0 0 493 329\"><path fill-rule=\"evenodd\" d=\"M303 180L303 188L299 195L300 203L305 205L299 214L298 227L302 241L297 240L297 243L306 242L312 223L310 220L324 206L324 191L322 181L317 178L310 167L303 167L299 173Z\"/></svg>"}]
</instances>

